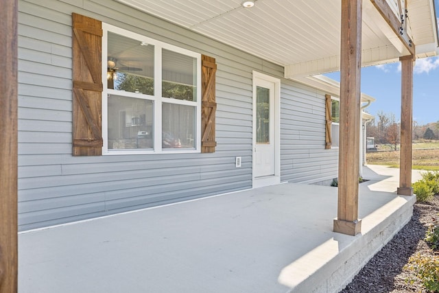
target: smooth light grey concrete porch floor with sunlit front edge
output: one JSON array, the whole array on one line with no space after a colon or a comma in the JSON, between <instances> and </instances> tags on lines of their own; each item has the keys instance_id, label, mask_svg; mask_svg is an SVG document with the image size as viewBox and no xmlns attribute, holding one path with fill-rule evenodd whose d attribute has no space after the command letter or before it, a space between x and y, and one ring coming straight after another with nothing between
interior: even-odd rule
<instances>
[{"instance_id":1,"label":"smooth light grey concrete porch floor with sunlit front edge","mask_svg":"<svg viewBox=\"0 0 439 293\"><path fill-rule=\"evenodd\" d=\"M364 167L355 237L336 188L293 183L25 231L19 292L338 292L410 220L398 174Z\"/></svg>"}]
</instances>

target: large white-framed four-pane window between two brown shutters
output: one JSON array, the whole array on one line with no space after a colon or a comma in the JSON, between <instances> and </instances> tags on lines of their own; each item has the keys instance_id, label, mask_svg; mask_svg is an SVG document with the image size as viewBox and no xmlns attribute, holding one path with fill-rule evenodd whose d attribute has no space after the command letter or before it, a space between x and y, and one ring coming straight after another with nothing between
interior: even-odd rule
<instances>
[{"instance_id":1,"label":"large white-framed four-pane window between two brown shutters","mask_svg":"<svg viewBox=\"0 0 439 293\"><path fill-rule=\"evenodd\" d=\"M103 28L103 153L200 152L201 55Z\"/></svg>"}]
</instances>

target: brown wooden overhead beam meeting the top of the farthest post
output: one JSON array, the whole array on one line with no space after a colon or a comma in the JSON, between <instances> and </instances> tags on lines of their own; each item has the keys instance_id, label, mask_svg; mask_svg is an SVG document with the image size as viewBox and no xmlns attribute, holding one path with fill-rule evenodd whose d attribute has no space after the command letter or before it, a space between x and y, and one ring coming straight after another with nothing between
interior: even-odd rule
<instances>
[{"instance_id":1,"label":"brown wooden overhead beam meeting the top of the farthest post","mask_svg":"<svg viewBox=\"0 0 439 293\"><path fill-rule=\"evenodd\" d=\"M415 45L412 38L407 34L407 30L405 30L406 24L404 22L407 22L407 17L405 16L406 11L404 10L403 14L401 14L401 19L399 19L387 1L370 0L370 2L377 8L379 14L383 16L383 19L388 23L390 28L392 28L393 32L398 36L399 40L401 40L401 43L403 43L404 47L410 52L410 55L414 55Z\"/></svg>"}]
</instances>

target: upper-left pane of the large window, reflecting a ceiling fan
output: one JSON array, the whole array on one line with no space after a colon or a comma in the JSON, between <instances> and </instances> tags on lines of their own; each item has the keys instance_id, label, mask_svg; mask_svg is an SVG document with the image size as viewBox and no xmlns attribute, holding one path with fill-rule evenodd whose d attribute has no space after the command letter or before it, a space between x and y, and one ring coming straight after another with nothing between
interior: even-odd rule
<instances>
[{"instance_id":1,"label":"upper-left pane of the large window, reflecting a ceiling fan","mask_svg":"<svg viewBox=\"0 0 439 293\"><path fill-rule=\"evenodd\" d=\"M154 95L154 45L108 32L108 89Z\"/></svg>"}]
</instances>

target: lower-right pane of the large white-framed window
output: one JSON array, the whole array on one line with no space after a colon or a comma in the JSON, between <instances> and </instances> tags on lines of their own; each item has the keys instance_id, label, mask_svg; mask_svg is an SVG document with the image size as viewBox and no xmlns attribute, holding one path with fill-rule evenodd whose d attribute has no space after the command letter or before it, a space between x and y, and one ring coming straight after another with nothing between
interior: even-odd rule
<instances>
[{"instance_id":1,"label":"lower-right pane of the large white-framed window","mask_svg":"<svg viewBox=\"0 0 439 293\"><path fill-rule=\"evenodd\" d=\"M163 103L162 148L195 148L195 107Z\"/></svg>"}]
</instances>

